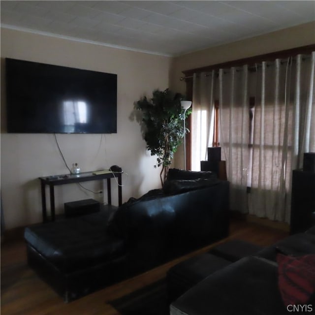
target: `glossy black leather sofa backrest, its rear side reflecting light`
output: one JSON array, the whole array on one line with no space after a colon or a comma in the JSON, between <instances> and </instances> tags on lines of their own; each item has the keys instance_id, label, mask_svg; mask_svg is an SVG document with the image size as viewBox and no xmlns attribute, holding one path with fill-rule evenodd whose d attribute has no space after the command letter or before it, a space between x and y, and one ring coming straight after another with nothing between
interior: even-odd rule
<instances>
[{"instance_id":1,"label":"glossy black leather sofa backrest, its rear side reflecting light","mask_svg":"<svg viewBox=\"0 0 315 315\"><path fill-rule=\"evenodd\" d=\"M220 182L121 206L112 222L128 244L130 261L160 263L227 236L228 187Z\"/></svg>"}]
</instances>

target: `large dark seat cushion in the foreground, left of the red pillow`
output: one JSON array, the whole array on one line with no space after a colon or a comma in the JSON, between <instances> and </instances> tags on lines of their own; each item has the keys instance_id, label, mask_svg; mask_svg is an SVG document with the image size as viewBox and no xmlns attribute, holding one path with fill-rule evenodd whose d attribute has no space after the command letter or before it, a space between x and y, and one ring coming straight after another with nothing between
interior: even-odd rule
<instances>
[{"instance_id":1,"label":"large dark seat cushion in the foreground, left of the red pillow","mask_svg":"<svg viewBox=\"0 0 315 315\"><path fill-rule=\"evenodd\" d=\"M193 286L170 306L171 315L287 315L278 266L246 257Z\"/></svg>"}]
</instances>

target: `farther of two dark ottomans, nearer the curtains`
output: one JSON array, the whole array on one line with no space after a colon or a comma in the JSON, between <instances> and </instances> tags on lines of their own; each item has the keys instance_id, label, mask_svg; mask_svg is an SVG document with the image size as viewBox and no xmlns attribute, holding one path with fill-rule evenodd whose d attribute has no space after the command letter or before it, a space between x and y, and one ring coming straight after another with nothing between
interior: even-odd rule
<instances>
[{"instance_id":1,"label":"farther of two dark ottomans, nearer the curtains","mask_svg":"<svg viewBox=\"0 0 315 315\"><path fill-rule=\"evenodd\" d=\"M241 258L252 256L263 248L241 240L231 240L214 247L209 253L229 261L237 261Z\"/></svg>"}]
</instances>

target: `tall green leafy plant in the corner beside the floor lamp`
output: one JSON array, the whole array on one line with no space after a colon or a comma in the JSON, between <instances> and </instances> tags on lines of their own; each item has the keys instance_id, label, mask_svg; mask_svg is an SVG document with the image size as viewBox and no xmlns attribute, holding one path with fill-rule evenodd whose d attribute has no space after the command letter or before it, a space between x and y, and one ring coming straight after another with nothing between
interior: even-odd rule
<instances>
[{"instance_id":1,"label":"tall green leafy plant in the corner beside the floor lamp","mask_svg":"<svg viewBox=\"0 0 315 315\"><path fill-rule=\"evenodd\" d=\"M163 185L168 169L174 158L178 146L184 137L184 119L191 113L181 107L184 95L173 93L169 89L165 91L153 91L153 97L146 96L135 102L135 108L142 112L141 124L143 137L147 143L147 149L152 156L157 156L157 164L162 166L160 172L161 184ZM189 131L186 128L185 132Z\"/></svg>"}]
</instances>

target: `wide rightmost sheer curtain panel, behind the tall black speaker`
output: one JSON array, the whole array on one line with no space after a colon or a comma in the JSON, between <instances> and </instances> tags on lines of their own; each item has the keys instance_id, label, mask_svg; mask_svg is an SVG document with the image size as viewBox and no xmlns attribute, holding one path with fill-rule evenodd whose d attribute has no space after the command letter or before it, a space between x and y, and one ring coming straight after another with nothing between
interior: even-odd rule
<instances>
[{"instance_id":1,"label":"wide rightmost sheer curtain panel, behind the tall black speaker","mask_svg":"<svg viewBox=\"0 0 315 315\"><path fill-rule=\"evenodd\" d=\"M314 58L257 68L250 214L289 222L292 169L315 149Z\"/></svg>"}]
</instances>

